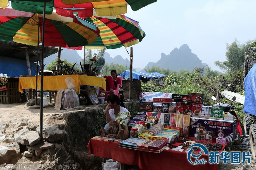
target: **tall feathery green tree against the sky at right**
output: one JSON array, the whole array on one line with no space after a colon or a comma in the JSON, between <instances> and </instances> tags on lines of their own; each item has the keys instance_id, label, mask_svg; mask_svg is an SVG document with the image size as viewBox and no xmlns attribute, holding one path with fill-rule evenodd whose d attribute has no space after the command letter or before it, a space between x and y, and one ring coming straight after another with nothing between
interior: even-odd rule
<instances>
[{"instance_id":1,"label":"tall feathery green tree against the sky at right","mask_svg":"<svg viewBox=\"0 0 256 170\"><path fill-rule=\"evenodd\" d=\"M231 44L227 44L226 59L227 61L215 61L214 64L224 71L234 73L240 70L244 64L245 52L248 50L252 40L240 45L235 39Z\"/></svg>"}]
</instances>

